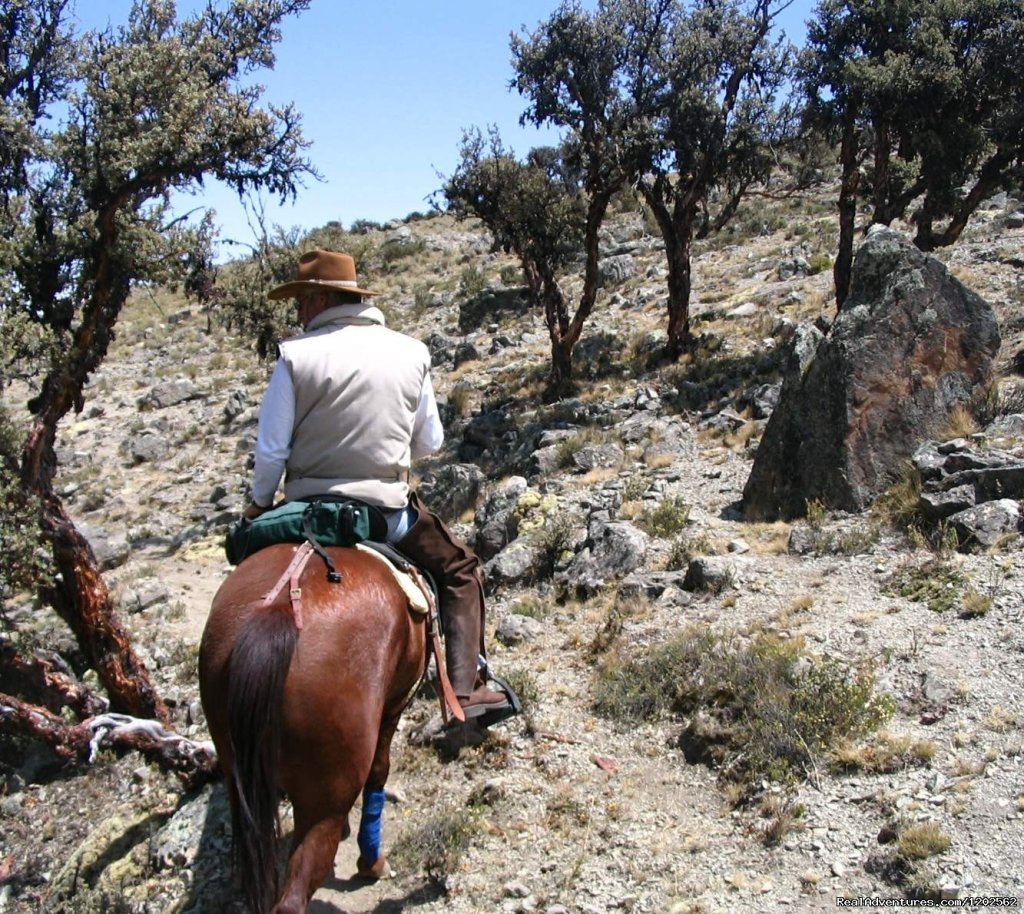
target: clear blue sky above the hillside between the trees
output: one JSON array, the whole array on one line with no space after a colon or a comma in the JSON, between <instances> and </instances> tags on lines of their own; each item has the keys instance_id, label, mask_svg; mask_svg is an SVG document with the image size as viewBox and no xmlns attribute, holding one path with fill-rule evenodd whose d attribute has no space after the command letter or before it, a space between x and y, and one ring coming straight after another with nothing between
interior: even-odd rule
<instances>
[{"instance_id":1,"label":"clear blue sky above the hillside between the trees","mask_svg":"<svg viewBox=\"0 0 1024 914\"><path fill-rule=\"evenodd\" d=\"M182 14L200 5L180 0ZM265 97L294 101L308 156L323 181L294 205L265 204L269 224L314 228L331 220L386 221L426 211L427 198L458 161L465 128L496 124L517 153L554 136L521 128L524 104L509 91L509 35L532 30L557 0L313 0L287 21ZM586 5L594 5L587 2ZM125 21L130 0L77 0L84 28ZM795 0L783 28L799 42L811 0ZM216 210L221 237L252 241L245 211L226 188L208 184L182 208ZM229 247L221 256L231 256Z\"/></svg>"}]
</instances>

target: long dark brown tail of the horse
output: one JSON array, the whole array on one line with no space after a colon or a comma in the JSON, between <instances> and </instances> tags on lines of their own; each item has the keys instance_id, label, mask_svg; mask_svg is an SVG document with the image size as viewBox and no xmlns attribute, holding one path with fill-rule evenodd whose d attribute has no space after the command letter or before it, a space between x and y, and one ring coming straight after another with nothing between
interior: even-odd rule
<instances>
[{"instance_id":1,"label":"long dark brown tail of the horse","mask_svg":"<svg viewBox=\"0 0 1024 914\"><path fill-rule=\"evenodd\" d=\"M243 624L227 665L233 864L257 914L269 911L278 896L282 711L298 635L290 614L255 613Z\"/></svg>"}]
</instances>

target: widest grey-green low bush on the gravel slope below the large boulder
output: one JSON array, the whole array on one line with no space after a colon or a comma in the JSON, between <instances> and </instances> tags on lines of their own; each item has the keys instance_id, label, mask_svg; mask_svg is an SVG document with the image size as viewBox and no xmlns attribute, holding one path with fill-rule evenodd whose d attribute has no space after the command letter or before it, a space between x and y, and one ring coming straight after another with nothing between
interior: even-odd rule
<instances>
[{"instance_id":1,"label":"widest grey-green low bush on the gravel slope below the large boulder","mask_svg":"<svg viewBox=\"0 0 1024 914\"><path fill-rule=\"evenodd\" d=\"M596 706L620 721L678 714L690 761L717 766L744 784L813 776L843 741L884 724L891 697L874 677L829 657L812 657L800 639L742 639L690 627L599 674Z\"/></svg>"}]
</instances>

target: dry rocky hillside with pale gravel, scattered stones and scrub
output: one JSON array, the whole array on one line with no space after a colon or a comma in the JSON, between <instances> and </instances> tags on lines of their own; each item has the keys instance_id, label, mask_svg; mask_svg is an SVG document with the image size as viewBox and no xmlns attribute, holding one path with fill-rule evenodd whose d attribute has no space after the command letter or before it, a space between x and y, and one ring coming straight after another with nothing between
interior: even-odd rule
<instances>
[{"instance_id":1,"label":"dry rocky hillside with pale gravel, scattered stones and scrub","mask_svg":"<svg viewBox=\"0 0 1024 914\"><path fill-rule=\"evenodd\" d=\"M1019 537L956 551L877 514L759 524L736 511L787 341L835 310L828 201L759 203L698 246L700 348L674 365L658 358L659 242L640 215L616 214L579 396L553 404L543 319L484 232L438 216L360 236L391 324L433 353L449 437L419 468L421 491L485 560L492 664L528 706L455 750L418 698L393 753L392 877L352 881L346 842L311 910L803 912L840 896L1024 896ZM1024 411L1021 212L991 201L940 255L999 317L1007 415ZM60 493L195 739L198 641L229 571L221 538L245 504L267 377L230 331L139 290L62 430ZM949 437L1012 463L1021 430L1002 416ZM75 665L46 612L26 604L6 624ZM783 707L762 680L779 658L827 687L817 704ZM706 681L719 677L716 691ZM676 703L646 713L651 689ZM730 690L778 720L729 717ZM815 714L837 730L849 719L850 738L776 745ZM219 788L187 794L104 751L62 772L7 746L0 775L0 912L233 910Z\"/></svg>"}]
</instances>

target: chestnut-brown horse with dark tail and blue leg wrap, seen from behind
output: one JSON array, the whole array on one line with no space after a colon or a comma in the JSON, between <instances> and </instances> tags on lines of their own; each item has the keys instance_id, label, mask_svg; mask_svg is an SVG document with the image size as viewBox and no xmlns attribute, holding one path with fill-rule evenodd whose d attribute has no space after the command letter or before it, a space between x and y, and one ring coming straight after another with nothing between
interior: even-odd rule
<instances>
[{"instance_id":1,"label":"chestnut-brown horse with dark tail and blue leg wrap, seen from behind","mask_svg":"<svg viewBox=\"0 0 1024 914\"><path fill-rule=\"evenodd\" d=\"M301 571L301 613L282 582L296 547L244 561L213 600L200 651L200 690L231 803L236 868L258 914L306 911L331 874L362 792L357 871L381 875L380 819L391 738L423 674L424 620L383 563L328 550ZM301 626L301 627L299 627ZM295 833L279 895L278 804ZM274 905L274 902L276 904Z\"/></svg>"}]
</instances>

